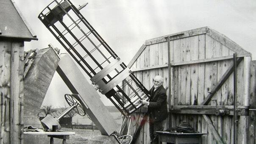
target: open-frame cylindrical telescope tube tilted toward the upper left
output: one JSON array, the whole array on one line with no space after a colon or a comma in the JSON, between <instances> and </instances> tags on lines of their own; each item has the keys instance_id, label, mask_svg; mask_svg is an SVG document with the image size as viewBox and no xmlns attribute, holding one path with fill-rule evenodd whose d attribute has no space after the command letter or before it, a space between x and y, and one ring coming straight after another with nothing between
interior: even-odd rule
<instances>
[{"instance_id":1,"label":"open-frame cylindrical telescope tube tilted toward the upper left","mask_svg":"<svg viewBox=\"0 0 256 144\"><path fill-rule=\"evenodd\" d=\"M70 0L54 0L38 18L124 116L142 106L139 100L149 98L147 89Z\"/></svg>"}]
</instances>

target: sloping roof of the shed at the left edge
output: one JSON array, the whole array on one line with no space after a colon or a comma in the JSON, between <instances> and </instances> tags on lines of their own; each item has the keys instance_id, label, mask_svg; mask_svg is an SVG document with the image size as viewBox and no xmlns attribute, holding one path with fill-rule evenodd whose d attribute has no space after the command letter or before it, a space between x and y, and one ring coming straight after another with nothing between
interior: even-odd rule
<instances>
[{"instance_id":1,"label":"sloping roof of the shed at the left edge","mask_svg":"<svg viewBox=\"0 0 256 144\"><path fill-rule=\"evenodd\" d=\"M38 40L13 0L0 0L0 37Z\"/></svg>"}]
</instances>

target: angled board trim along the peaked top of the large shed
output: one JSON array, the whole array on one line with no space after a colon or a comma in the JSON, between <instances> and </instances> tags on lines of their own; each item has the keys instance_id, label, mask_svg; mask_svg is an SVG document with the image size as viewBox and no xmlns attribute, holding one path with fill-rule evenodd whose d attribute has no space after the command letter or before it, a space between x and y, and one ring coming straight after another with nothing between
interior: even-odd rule
<instances>
[{"instance_id":1,"label":"angled board trim along the peaked top of the large shed","mask_svg":"<svg viewBox=\"0 0 256 144\"><path fill-rule=\"evenodd\" d=\"M217 40L221 44L223 44L226 47L228 47L229 49L233 50L238 55L251 56L251 54L249 52L242 49L242 47L240 47L238 44L233 42L227 36L217 32L216 30L211 29L209 27L203 27L203 28L196 28L196 29L193 29L193 30L186 30L186 31L183 31L183 32L173 33L173 34L169 34L169 35L166 35L166 36L160 36L160 37L157 37L157 38L146 40L145 43L142 44L142 46L139 48L137 53L134 55L134 57L132 58L132 60L128 64L128 67L131 68L131 66L134 64L134 62L137 60L137 58L139 58L139 55L143 52L143 50L146 48L147 45L161 43L161 42L167 42L167 37L168 36L169 36L170 40L175 40L175 39L186 38L186 37L189 37L189 36L196 36L196 35L200 35L200 34L207 34L211 38Z\"/></svg>"}]
</instances>

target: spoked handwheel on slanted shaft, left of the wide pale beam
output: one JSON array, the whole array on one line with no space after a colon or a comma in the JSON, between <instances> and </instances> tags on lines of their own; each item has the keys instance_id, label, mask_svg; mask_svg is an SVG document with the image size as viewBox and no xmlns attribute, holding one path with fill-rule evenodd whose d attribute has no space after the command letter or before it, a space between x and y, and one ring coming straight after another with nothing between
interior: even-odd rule
<instances>
[{"instance_id":1,"label":"spoked handwheel on slanted shaft, left of the wide pale beam","mask_svg":"<svg viewBox=\"0 0 256 144\"><path fill-rule=\"evenodd\" d=\"M83 105L81 102L79 102L79 97L76 94L65 94L64 95L65 100L67 101L68 105L76 105L75 108L73 109L77 114L81 116L85 116L86 112L84 110Z\"/></svg>"}]
</instances>

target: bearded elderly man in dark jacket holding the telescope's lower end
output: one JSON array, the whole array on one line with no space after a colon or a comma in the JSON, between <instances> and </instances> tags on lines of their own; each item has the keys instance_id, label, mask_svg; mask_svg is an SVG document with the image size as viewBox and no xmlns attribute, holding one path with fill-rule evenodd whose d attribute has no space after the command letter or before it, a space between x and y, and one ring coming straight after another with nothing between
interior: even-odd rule
<instances>
[{"instance_id":1,"label":"bearded elderly man in dark jacket holding the telescope's lower end","mask_svg":"<svg viewBox=\"0 0 256 144\"><path fill-rule=\"evenodd\" d=\"M154 78L154 86L150 89L149 93L149 102L146 100L141 100L141 102L148 107L150 144L157 144L158 137L154 132L164 130L164 123L167 118L167 95L161 76L157 75Z\"/></svg>"}]
</instances>

